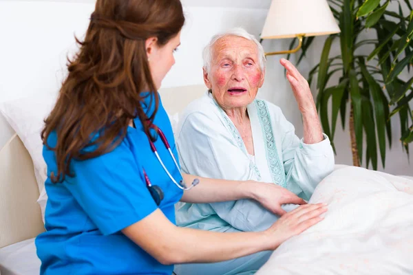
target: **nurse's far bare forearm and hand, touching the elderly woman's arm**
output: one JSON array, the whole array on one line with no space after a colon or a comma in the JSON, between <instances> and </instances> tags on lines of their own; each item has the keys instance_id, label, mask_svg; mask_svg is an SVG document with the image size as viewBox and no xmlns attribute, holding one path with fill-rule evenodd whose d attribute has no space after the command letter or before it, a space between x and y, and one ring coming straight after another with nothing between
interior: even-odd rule
<instances>
[{"instance_id":1,"label":"nurse's far bare forearm and hand, touching the elderly woman's arm","mask_svg":"<svg viewBox=\"0 0 413 275\"><path fill-rule=\"evenodd\" d=\"M209 179L182 174L184 181L200 179L197 186L184 191L180 201L188 203L214 203L220 201L236 201L238 199L255 199L275 214L285 214L281 205L284 203L305 204L306 201L277 184L267 184L258 181L229 181L224 179Z\"/></svg>"}]
</instances>

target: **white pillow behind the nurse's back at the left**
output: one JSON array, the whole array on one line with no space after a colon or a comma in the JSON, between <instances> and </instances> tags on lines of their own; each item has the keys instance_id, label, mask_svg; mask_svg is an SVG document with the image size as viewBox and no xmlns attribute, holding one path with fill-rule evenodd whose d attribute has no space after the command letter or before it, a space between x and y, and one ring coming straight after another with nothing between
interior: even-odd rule
<instances>
[{"instance_id":1,"label":"white pillow behind the nurse's back at the left","mask_svg":"<svg viewBox=\"0 0 413 275\"><path fill-rule=\"evenodd\" d=\"M47 201L47 195L44 190L47 166L43 159L43 142L40 135L44 119L52 110L55 102L56 94L43 94L0 104L0 112L17 135L19 135L30 157L32 157L34 175L39 193L41 194L38 203L41 207L43 221Z\"/></svg>"}]
</instances>

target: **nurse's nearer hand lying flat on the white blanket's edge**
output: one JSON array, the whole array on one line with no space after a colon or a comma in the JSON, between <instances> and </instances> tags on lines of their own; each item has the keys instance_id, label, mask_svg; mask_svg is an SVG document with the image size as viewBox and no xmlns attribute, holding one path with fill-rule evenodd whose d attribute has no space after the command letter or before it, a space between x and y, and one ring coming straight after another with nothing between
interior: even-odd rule
<instances>
[{"instance_id":1,"label":"nurse's nearer hand lying flat on the white blanket's edge","mask_svg":"<svg viewBox=\"0 0 413 275\"><path fill-rule=\"evenodd\" d=\"M325 203L306 204L295 210L284 214L271 228L265 231L270 243L271 250L275 250L290 237L300 234L304 230L319 223L323 218L321 214L327 211Z\"/></svg>"}]
</instances>

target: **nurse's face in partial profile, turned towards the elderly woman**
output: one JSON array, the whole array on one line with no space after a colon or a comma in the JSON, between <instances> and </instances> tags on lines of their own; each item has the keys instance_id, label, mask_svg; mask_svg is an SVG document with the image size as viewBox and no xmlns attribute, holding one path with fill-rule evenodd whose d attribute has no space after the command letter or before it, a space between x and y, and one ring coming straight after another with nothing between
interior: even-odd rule
<instances>
[{"instance_id":1,"label":"nurse's face in partial profile, turned towards the elderly woman","mask_svg":"<svg viewBox=\"0 0 413 275\"><path fill-rule=\"evenodd\" d=\"M160 88L162 80L165 78L173 64L175 64L173 52L179 45L180 32L163 46L159 46L156 41L150 45L147 45L147 51L149 47L150 52L148 54L149 69L151 70L151 76L156 89Z\"/></svg>"}]
</instances>

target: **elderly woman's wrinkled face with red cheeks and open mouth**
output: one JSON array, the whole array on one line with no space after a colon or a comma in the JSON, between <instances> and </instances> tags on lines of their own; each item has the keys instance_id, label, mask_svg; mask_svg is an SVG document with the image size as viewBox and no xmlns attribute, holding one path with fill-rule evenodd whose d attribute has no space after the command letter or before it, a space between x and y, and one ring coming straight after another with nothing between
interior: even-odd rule
<instances>
[{"instance_id":1,"label":"elderly woman's wrinkled face with red cheeks and open mouth","mask_svg":"<svg viewBox=\"0 0 413 275\"><path fill-rule=\"evenodd\" d=\"M223 109L246 107L264 83L257 45L238 36L218 40L212 50L211 72L204 72L204 80Z\"/></svg>"}]
</instances>

